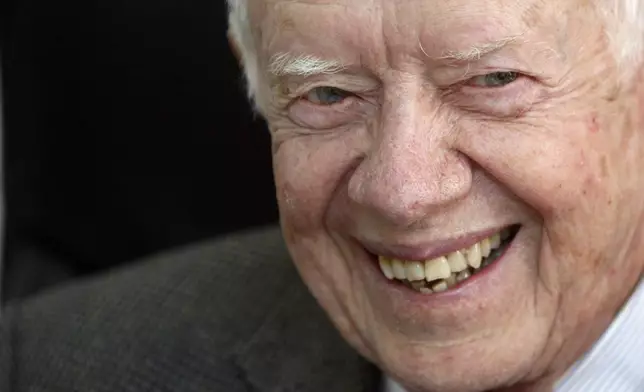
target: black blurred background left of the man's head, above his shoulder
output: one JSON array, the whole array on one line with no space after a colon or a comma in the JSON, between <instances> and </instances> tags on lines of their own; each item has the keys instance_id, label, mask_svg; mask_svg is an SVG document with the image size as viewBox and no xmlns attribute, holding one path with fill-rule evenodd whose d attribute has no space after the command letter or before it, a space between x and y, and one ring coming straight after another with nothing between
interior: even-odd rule
<instances>
[{"instance_id":1,"label":"black blurred background left of the man's head, above his shoulder","mask_svg":"<svg viewBox=\"0 0 644 392\"><path fill-rule=\"evenodd\" d=\"M4 0L3 300L277 220L224 0Z\"/></svg>"}]
</instances>

